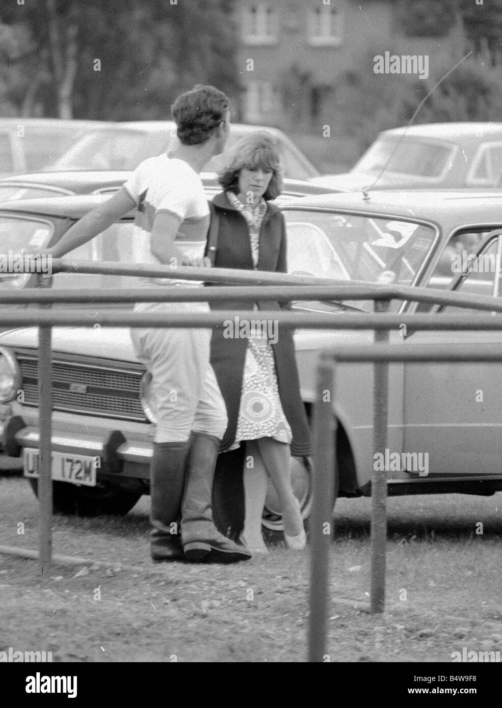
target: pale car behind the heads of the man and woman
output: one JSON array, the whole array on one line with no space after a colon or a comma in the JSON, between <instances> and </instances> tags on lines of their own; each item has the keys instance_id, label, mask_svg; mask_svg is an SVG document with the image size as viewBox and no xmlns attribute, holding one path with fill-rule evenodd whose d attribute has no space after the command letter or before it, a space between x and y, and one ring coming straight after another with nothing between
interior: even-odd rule
<instances>
[{"instance_id":1,"label":"pale car behind the heads of the man and woman","mask_svg":"<svg viewBox=\"0 0 502 708\"><path fill-rule=\"evenodd\" d=\"M255 130L268 130L278 140L285 177L309 180L319 176L315 167L281 130L239 123L232 123L225 152L212 157L205 171L218 172L236 141ZM176 124L172 120L115 123L111 135L104 136L99 132L85 135L59 159L47 164L45 169L134 170L147 157L154 157L173 148L177 140Z\"/></svg>"}]
</instances>

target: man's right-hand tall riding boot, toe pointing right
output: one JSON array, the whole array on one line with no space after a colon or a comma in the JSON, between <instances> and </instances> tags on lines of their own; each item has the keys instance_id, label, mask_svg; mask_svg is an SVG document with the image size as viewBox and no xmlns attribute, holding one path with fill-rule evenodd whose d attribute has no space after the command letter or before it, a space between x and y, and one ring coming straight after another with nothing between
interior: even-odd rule
<instances>
[{"instance_id":1,"label":"man's right-hand tall riding boot, toe pointing right","mask_svg":"<svg viewBox=\"0 0 502 708\"><path fill-rule=\"evenodd\" d=\"M190 435L186 487L181 513L181 542L190 561L234 563L251 554L217 530L212 520L211 493L219 440L214 435Z\"/></svg>"}]
</instances>

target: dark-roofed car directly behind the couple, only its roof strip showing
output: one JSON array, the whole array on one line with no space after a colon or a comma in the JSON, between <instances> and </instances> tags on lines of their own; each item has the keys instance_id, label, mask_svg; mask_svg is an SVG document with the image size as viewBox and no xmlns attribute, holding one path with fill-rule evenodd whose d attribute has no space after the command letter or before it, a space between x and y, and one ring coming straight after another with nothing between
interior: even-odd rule
<instances>
[{"instance_id":1,"label":"dark-roofed car directly behind the couple, only its roof strip showing","mask_svg":"<svg viewBox=\"0 0 502 708\"><path fill-rule=\"evenodd\" d=\"M69 171L35 172L12 175L0 179L0 203L39 197L64 197L75 194L113 194L131 176L130 171ZM212 172L201 174L208 196L222 190L217 176ZM339 190L338 190L339 191ZM310 194L331 194L329 187L314 185L304 180L284 180L281 199Z\"/></svg>"}]
</instances>

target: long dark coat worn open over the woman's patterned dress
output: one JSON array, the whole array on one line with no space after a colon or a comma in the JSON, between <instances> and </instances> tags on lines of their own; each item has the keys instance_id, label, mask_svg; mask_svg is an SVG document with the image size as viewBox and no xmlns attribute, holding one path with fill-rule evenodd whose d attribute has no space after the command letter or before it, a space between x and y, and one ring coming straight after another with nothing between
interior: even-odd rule
<instances>
[{"instance_id":1,"label":"long dark coat worn open over the woman's patterned dress","mask_svg":"<svg viewBox=\"0 0 502 708\"><path fill-rule=\"evenodd\" d=\"M222 192L210 204L211 216L217 210L219 235L215 255L215 268L240 268L255 270L251 255L249 227L244 216ZM207 255L207 254L206 254ZM268 203L260 229L260 252L256 270L286 273L286 229L283 214L278 207ZM253 310L254 302L214 302L212 309ZM258 302L261 310L278 310L276 301ZM256 312L250 319L260 319ZM223 328L213 330L211 364L222 392L229 424L222 440L222 450L235 440L237 417L241 403L241 387L248 341L246 338L224 338ZM305 414L300 382L298 380L295 346L290 329L279 328L278 342L272 345L278 388L283 411L292 430L291 454L297 457L311 455L309 424Z\"/></svg>"}]
</instances>

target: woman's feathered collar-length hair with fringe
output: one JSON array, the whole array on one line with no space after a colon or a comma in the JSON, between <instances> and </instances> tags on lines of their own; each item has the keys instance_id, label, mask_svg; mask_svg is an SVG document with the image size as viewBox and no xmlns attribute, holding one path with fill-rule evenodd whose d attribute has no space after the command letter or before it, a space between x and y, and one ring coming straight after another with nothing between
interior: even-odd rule
<instances>
[{"instance_id":1,"label":"woman's feathered collar-length hair with fringe","mask_svg":"<svg viewBox=\"0 0 502 708\"><path fill-rule=\"evenodd\" d=\"M280 143L267 130L256 130L236 144L228 166L219 174L218 181L225 191L239 193L239 174L243 168L272 171L272 178L263 198L268 202L283 191Z\"/></svg>"}]
</instances>

